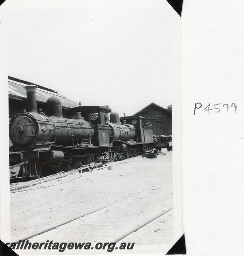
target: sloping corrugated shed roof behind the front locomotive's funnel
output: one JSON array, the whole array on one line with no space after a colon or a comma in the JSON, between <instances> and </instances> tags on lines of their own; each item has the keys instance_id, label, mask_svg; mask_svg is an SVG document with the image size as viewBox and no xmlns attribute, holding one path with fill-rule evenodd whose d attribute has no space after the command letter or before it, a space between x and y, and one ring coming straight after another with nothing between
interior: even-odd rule
<instances>
[{"instance_id":1,"label":"sloping corrugated shed roof behind the front locomotive's funnel","mask_svg":"<svg viewBox=\"0 0 244 256\"><path fill-rule=\"evenodd\" d=\"M9 76L9 98L12 98L15 100L26 100L26 89L24 89L24 86L30 85L30 84L36 85L34 83ZM46 103L48 98L50 98L51 96L56 96L61 100L63 108L72 108L72 107L78 106L78 103L62 96L57 91L54 91L52 89L49 89L40 85L37 85L37 87L38 88L36 89L36 98L37 98L37 101L39 102Z\"/></svg>"}]
</instances>

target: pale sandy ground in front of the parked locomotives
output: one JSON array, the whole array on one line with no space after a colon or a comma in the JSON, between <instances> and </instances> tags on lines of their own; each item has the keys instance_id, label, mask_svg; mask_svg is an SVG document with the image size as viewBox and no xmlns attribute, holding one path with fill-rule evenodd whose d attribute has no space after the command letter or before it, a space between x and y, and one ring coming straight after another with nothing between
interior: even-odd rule
<instances>
[{"instance_id":1,"label":"pale sandy ground in front of the parked locomotives","mask_svg":"<svg viewBox=\"0 0 244 256\"><path fill-rule=\"evenodd\" d=\"M11 193L11 240L105 207L30 241L111 242L170 209L172 152L158 155L157 159L138 156L129 160L112 170L72 174L39 185L51 187ZM122 241L152 245L171 243L172 238L171 210Z\"/></svg>"}]
</instances>

